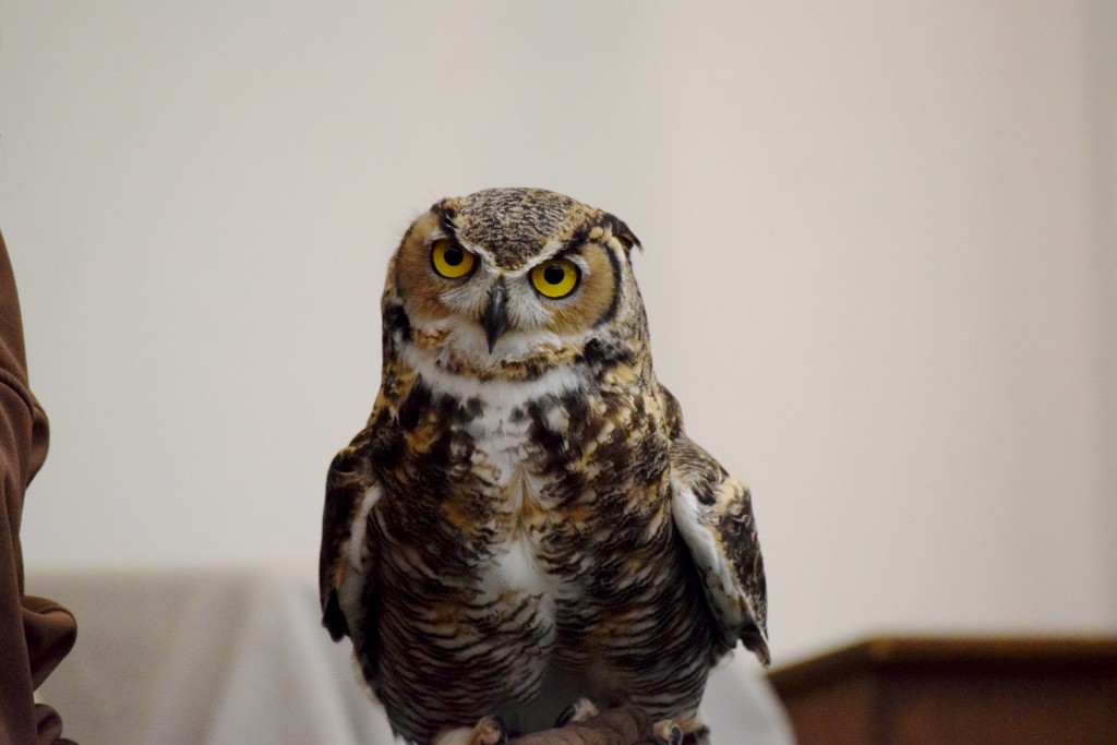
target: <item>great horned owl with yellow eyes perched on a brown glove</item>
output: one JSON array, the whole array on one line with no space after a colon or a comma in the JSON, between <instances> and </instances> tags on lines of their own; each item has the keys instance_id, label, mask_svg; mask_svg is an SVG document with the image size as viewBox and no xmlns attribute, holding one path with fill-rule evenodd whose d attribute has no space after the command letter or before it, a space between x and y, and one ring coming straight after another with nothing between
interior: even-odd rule
<instances>
[{"instance_id":1,"label":"great horned owl with yellow eyes perched on a brown glove","mask_svg":"<svg viewBox=\"0 0 1117 745\"><path fill-rule=\"evenodd\" d=\"M656 380L636 246L567 197L490 189L436 203L391 259L321 590L410 742L534 732L588 699L701 743L714 662L738 640L768 662L748 489Z\"/></svg>"}]
</instances>

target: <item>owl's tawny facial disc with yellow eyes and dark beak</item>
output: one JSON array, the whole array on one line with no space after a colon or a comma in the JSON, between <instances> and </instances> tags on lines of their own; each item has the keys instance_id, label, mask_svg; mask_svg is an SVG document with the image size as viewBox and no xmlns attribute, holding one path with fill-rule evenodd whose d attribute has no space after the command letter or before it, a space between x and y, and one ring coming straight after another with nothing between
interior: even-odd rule
<instances>
[{"instance_id":1,"label":"owl's tawny facial disc with yellow eyes and dark beak","mask_svg":"<svg viewBox=\"0 0 1117 745\"><path fill-rule=\"evenodd\" d=\"M385 290L409 321L404 344L448 367L510 376L518 365L576 360L590 340L626 323L618 319L629 307L630 246L613 232L620 223L536 235L505 217L493 217L498 229L488 217L464 228L435 210L408 230Z\"/></svg>"}]
</instances>

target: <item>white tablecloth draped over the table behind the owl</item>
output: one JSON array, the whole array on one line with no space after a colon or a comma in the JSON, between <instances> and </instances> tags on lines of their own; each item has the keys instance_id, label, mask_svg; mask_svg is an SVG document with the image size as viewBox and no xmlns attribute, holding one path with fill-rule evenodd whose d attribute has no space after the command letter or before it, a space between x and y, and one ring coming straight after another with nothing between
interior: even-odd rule
<instances>
[{"instance_id":1,"label":"white tablecloth draped over the table behind the owl","mask_svg":"<svg viewBox=\"0 0 1117 745\"><path fill-rule=\"evenodd\" d=\"M39 690L83 745L388 745L347 641L322 628L312 577L275 570L29 572L69 608L77 646ZM790 745L783 710L744 652L703 710L718 745Z\"/></svg>"}]
</instances>

